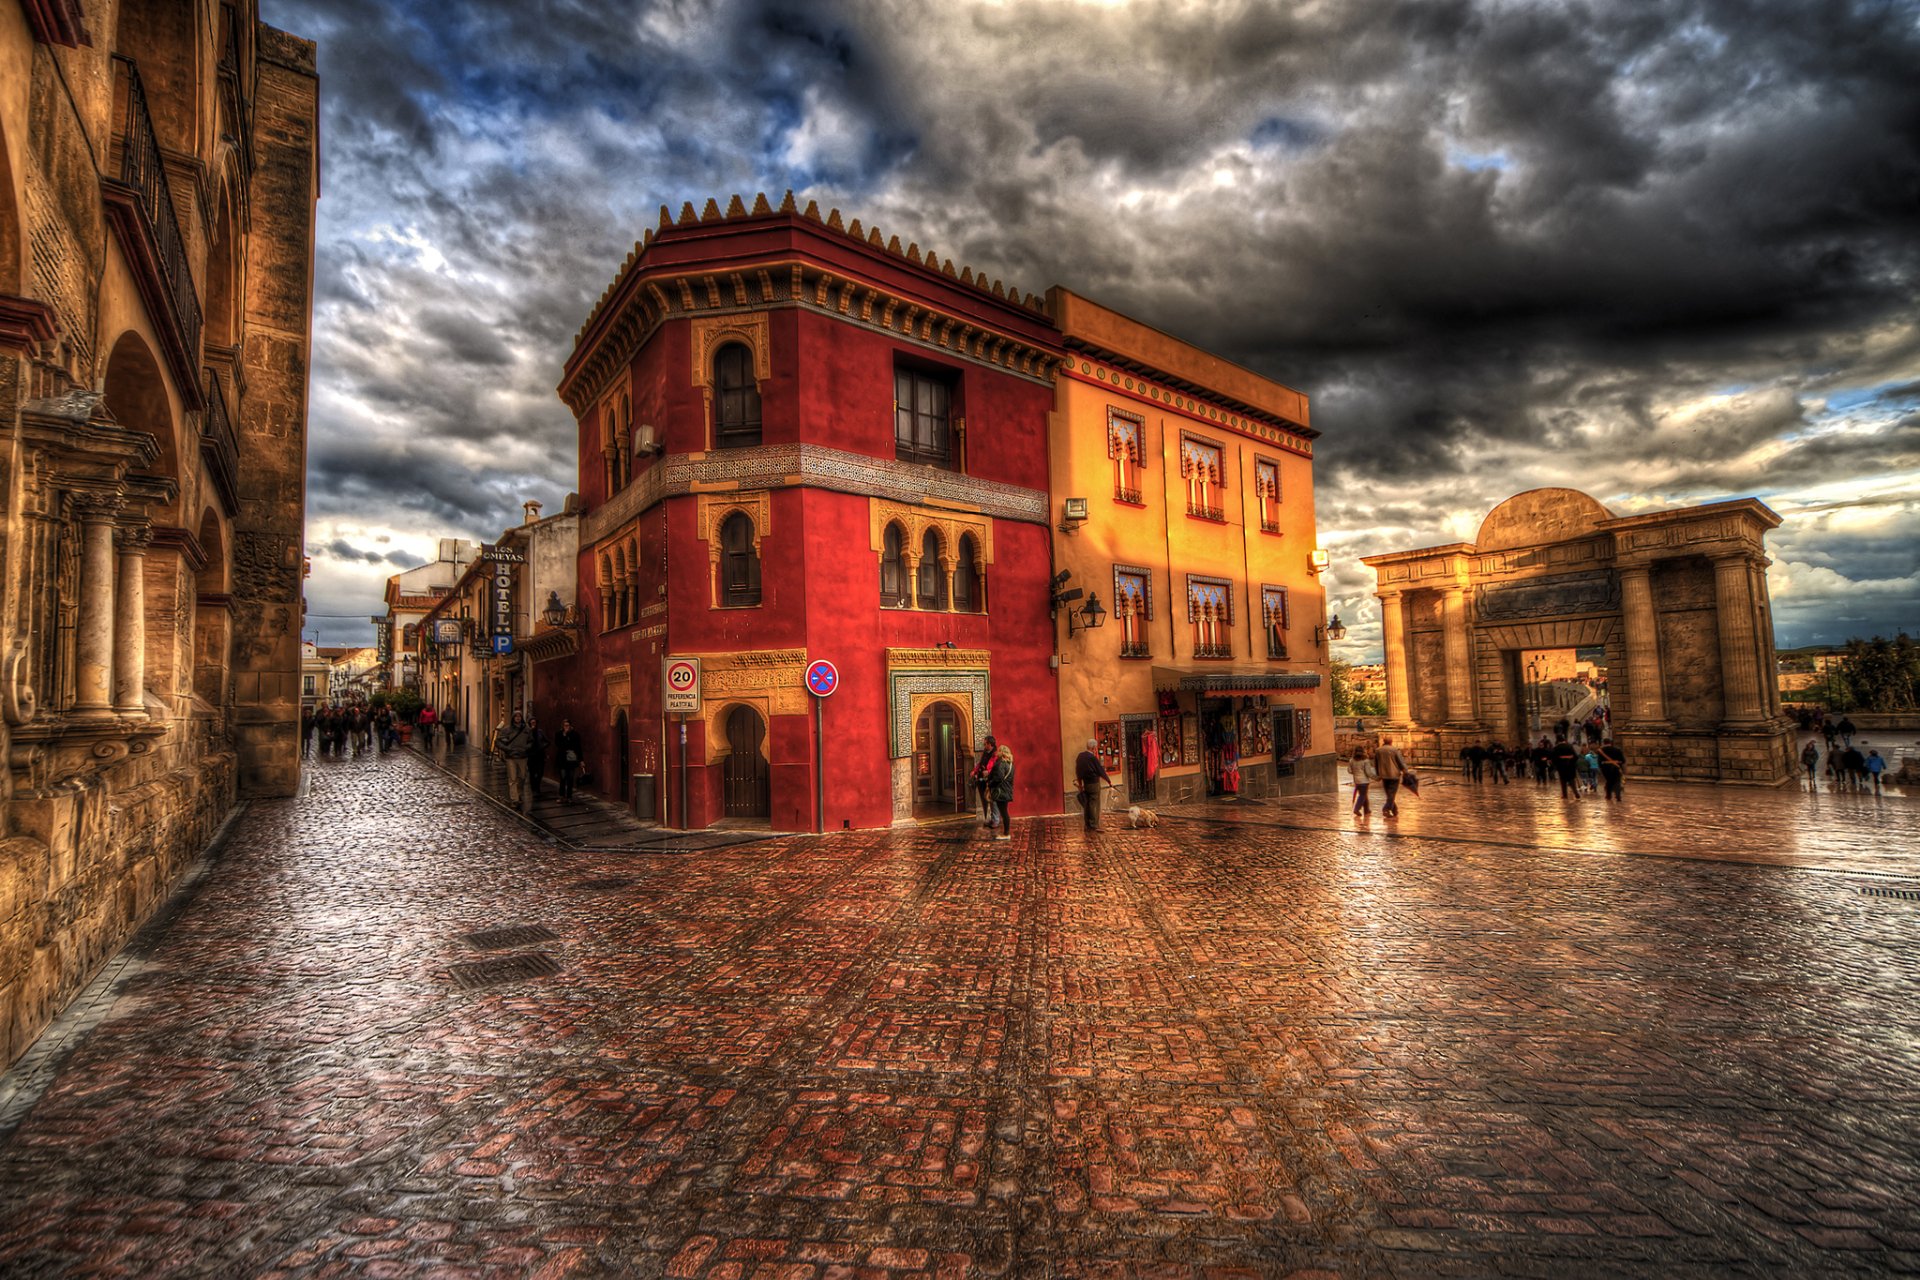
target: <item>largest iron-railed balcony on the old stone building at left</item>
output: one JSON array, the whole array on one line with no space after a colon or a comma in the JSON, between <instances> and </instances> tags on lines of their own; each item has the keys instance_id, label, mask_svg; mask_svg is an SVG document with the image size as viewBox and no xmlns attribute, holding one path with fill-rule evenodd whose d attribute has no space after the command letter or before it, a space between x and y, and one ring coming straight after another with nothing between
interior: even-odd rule
<instances>
[{"instance_id":1,"label":"largest iron-railed balcony on the old stone building at left","mask_svg":"<svg viewBox=\"0 0 1920 1280\"><path fill-rule=\"evenodd\" d=\"M113 150L108 173L111 177L100 178L108 221L132 265L140 299L173 370L173 384L188 411L198 411L204 407L200 296L186 265L186 236L180 234L140 69L123 54L113 54Z\"/></svg>"}]
</instances>

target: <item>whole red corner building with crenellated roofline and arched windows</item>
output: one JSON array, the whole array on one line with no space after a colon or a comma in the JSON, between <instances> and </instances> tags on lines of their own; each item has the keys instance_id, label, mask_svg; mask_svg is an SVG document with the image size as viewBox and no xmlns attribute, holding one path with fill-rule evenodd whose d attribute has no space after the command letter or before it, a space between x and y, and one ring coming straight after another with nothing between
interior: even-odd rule
<instances>
[{"instance_id":1,"label":"whole red corner building with crenellated roofline and arched windows","mask_svg":"<svg viewBox=\"0 0 1920 1280\"><path fill-rule=\"evenodd\" d=\"M1014 814L1058 810L1058 359L1039 299L791 194L662 209L559 388L584 626L534 702L582 729L593 787L674 827L881 827L968 810L993 733ZM703 664L684 773L668 656ZM841 677L822 750L816 658Z\"/></svg>"}]
</instances>

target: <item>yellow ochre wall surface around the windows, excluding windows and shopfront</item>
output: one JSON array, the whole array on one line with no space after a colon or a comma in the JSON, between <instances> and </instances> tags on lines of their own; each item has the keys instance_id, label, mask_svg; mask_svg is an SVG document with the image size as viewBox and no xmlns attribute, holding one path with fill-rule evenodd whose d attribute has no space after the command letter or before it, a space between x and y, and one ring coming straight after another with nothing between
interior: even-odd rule
<instances>
[{"instance_id":1,"label":"yellow ochre wall surface around the windows, excluding windows and shopfront","mask_svg":"<svg viewBox=\"0 0 1920 1280\"><path fill-rule=\"evenodd\" d=\"M1284 416L1306 426L1306 397L1236 365L1190 347L1167 334L1106 311L1064 290L1048 294L1060 320L1069 359L1054 380L1050 418L1050 468L1054 491L1054 560L1069 570L1068 589L1098 593L1108 620L1098 629L1068 637L1066 608L1079 608L1085 597L1060 610L1060 785L1064 804L1073 796L1073 760L1094 733L1096 722L1158 710L1154 668L1200 674L1317 674L1313 689L1269 693L1269 704L1309 708L1311 729L1306 756L1296 762L1296 777L1319 777L1331 768L1300 770L1302 764L1332 754L1332 695L1327 647L1315 641L1325 622L1327 597L1311 568L1315 549L1311 438L1283 432L1231 401ZM1198 390L1196 390L1198 388ZM1229 393L1210 395L1219 388ZM1108 453L1108 411L1142 418L1144 464L1139 476L1140 505L1114 495L1114 461ZM1221 447L1225 476L1221 507L1225 520L1187 514L1187 480L1181 476L1181 438L1194 436ZM1279 532L1260 528L1254 493L1256 459L1279 462ZM1068 497L1087 499L1087 522L1073 532L1062 528ZM1137 566L1152 578L1152 620L1146 626L1150 658L1121 658L1121 626L1116 608L1114 566ZM1187 576L1202 574L1233 583L1231 658L1196 658L1187 618ZM1284 660L1267 658L1260 622L1260 587L1279 585L1288 593ZM1187 712L1198 712L1198 697L1183 693ZM1215 697L1215 695L1206 695ZM1227 695L1217 695L1227 697ZM1231 695L1240 704L1244 695ZM1200 752L1204 758L1204 752ZM1271 754L1242 756L1250 766L1271 762ZM1171 783L1194 779L1202 764L1164 764L1158 802L1179 791ZM1125 789L1125 777L1116 771ZM1290 785L1288 789L1309 789ZM1204 791L1204 785L1202 785ZM1123 796L1125 791L1116 793ZM1110 796L1108 808L1116 802Z\"/></svg>"}]
</instances>

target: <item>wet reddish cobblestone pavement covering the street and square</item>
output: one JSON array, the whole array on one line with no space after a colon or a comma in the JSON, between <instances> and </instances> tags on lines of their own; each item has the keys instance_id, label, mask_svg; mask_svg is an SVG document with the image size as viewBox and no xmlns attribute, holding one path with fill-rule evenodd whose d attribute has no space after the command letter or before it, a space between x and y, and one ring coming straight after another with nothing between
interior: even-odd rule
<instances>
[{"instance_id":1,"label":"wet reddish cobblestone pavement covering the street and square","mask_svg":"<svg viewBox=\"0 0 1920 1280\"><path fill-rule=\"evenodd\" d=\"M1920 1268L1912 800L655 856L407 752L313 779L10 1077L0 1272Z\"/></svg>"}]
</instances>

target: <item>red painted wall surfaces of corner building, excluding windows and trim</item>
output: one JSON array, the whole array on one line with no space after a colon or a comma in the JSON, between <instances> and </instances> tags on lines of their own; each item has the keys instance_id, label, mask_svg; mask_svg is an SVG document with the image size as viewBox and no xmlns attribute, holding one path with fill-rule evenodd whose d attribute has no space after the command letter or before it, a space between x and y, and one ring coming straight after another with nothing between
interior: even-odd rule
<instances>
[{"instance_id":1,"label":"red painted wall surfaces of corner building, excluding windows and trim","mask_svg":"<svg viewBox=\"0 0 1920 1280\"><path fill-rule=\"evenodd\" d=\"M766 228L762 228L766 230ZM780 232L780 234L772 234ZM818 249L818 228L766 230L768 251L791 255L795 244ZM747 244L747 238L741 244ZM764 238L764 236L762 236ZM1050 340L1044 317L1008 309L991 296L931 278L924 269L870 251L845 238L828 236L831 255L870 271L895 288L916 292L937 305L975 315L1002 330L1041 342ZM653 261L714 265L724 234L701 230L691 240L657 240ZM762 246L764 248L764 246ZM705 257L703 257L705 255ZM858 259L858 261L856 261ZM881 261L883 259L883 261ZM636 278L639 273L636 273ZM762 441L808 441L891 459L893 370L897 357L947 368L956 378L954 413L966 418L968 474L1046 489L1046 416L1052 388L973 365L948 353L922 349L849 320L808 309L768 313L772 376L760 388ZM691 384L691 336L685 320L662 324L628 367L634 424L653 424L668 453L707 449L705 399ZM605 395L601 397L605 403ZM603 505L603 462L593 411L580 424L580 493L588 507ZM636 474L655 459L636 459ZM722 814L722 770L701 766L705 731L687 725L689 812L678 810L678 739L662 741L660 658L666 652L739 652L755 649L804 649L812 658L839 666L839 691L826 700L826 827L881 827L893 821L893 768L889 760L887 674L889 647L925 649L952 643L991 652L993 731L1016 752L1014 812L1039 814L1058 806L1056 762L1060 718L1054 674L1054 624L1048 614L1052 574L1050 537L1041 524L996 520L995 560L987 566L987 614L945 614L879 606L879 564L870 547L866 497L826 489L774 489L772 522L760 537L758 608L712 606L708 553L697 539L697 499L672 497L636 520L641 543L641 604L657 599L659 562L666 560L666 614L641 616L632 628L603 633L597 580L597 547L580 555L580 599L588 608L580 654L536 666L534 699L543 723L570 716L582 729L595 789L614 794L616 745L607 710L603 672L626 664L632 679L630 768L660 764L660 796L672 825L705 827ZM634 530L636 526L628 526ZM626 537L626 532L620 533ZM666 633L643 637L651 626ZM956 697L964 702L964 697ZM666 727L668 735L678 725ZM812 716L776 716L766 739L772 825L814 827Z\"/></svg>"}]
</instances>

